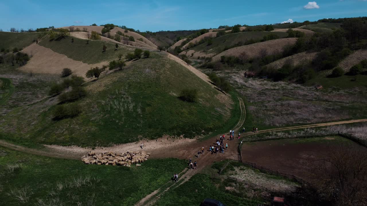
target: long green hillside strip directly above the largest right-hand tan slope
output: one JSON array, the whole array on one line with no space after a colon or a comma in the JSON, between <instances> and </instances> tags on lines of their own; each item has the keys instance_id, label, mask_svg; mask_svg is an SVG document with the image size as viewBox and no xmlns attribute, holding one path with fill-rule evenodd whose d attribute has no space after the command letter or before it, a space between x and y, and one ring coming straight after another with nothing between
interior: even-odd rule
<instances>
[{"instance_id":1,"label":"long green hillside strip directly above the largest right-hand tan slope","mask_svg":"<svg viewBox=\"0 0 367 206\"><path fill-rule=\"evenodd\" d=\"M197 45L196 47L190 48L190 50L195 51L207 51L212 54L219 54L226 50L225 48L231 48L233 45L238 43L245 43L246 41L252 40L262 40L265 35L270 34L270 32L240 32L234 34L226 34L213 39L213 43L208 45L207 42ZM271 34L277 34L280 38L286 37L288 34L286 32L272 32Z\"/></svg>"}]
</instances>

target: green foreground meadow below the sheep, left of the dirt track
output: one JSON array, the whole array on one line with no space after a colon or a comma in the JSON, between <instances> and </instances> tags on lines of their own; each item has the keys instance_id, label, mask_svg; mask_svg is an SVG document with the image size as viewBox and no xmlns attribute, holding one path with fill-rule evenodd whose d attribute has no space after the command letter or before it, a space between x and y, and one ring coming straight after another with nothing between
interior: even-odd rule
<instances>
[{"instance_id":1,"label":"green foreground meadow below the sheep, left of the dirt track","mask_svg":"<svg viewBox=\"0 0 367 206\"><path fill-rule=\"evenodd\" d=\"M186 162L149 159L141 165L84 165L79 160L40 157L0 147L0 205L42 205L40 201L52 205L55 201L57 206L75 206L78 202L131 206L169 182Z\"/></svg>"}]
</instances>

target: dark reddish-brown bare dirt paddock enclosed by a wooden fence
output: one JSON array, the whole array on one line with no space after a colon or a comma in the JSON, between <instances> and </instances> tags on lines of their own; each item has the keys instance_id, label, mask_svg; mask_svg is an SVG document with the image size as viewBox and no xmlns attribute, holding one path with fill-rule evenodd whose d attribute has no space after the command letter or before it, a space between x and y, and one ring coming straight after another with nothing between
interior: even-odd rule
<instances>
[{"instance_id":1,"label":"dark reddish-brown bare dirt paddock enclosed by a wooden fence","mask_svg":"<svg viewBox=\"0 0 367 206\"><path fill-rule=\"evenodd\" d=\"M330 154L333 145L334 140L299 144L290 143L287 139L245 143L242 146L242 159L309 181L312 164Z\"/></svg>"}]
</instances>

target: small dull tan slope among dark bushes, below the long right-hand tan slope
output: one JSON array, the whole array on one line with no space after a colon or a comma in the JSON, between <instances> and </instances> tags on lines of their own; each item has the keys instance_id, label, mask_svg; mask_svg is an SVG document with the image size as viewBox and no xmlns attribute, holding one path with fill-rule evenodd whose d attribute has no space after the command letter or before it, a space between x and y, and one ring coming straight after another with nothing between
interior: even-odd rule
<instances>
[{"instance_id":1,"label":"small dull tan slope among dark bushes, below the long right-hand tan slope","mask_svg":"<svg viewBox=\"0 0 367 206\"><path fill-rule=\"evenodd\" d=\"M318 53L319 52L302 52L294 54L292 56L287 56L286 58L276 60L275 62L272 62L267 66L272 66L275 69L280 69L285 63L291 63L292 65L299 65L301 63L312 61L313 59L316 58L316 55Z\"/></svg>"}]
</instances>

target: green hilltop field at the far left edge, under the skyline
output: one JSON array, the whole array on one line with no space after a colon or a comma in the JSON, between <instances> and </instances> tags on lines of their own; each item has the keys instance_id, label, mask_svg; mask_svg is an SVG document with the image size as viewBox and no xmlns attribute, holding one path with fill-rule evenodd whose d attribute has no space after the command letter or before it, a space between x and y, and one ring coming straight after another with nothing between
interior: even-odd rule
<instances>
[{"instance_id":1,"label":"green hilltop field at the far left edge, under the skyline","mask_svg":"<svg viewBox=\"0 0 367 206\"><path fill-rule=\"evenodd\" d=\"M0 32L0 48L10 49L10 51L12 51L14 47L18 49L25 48L35 42L36 38L40 39L46 34L47 32Z\"/></svg>"}]
</instances>

